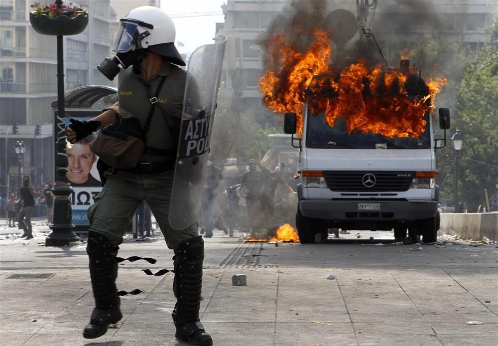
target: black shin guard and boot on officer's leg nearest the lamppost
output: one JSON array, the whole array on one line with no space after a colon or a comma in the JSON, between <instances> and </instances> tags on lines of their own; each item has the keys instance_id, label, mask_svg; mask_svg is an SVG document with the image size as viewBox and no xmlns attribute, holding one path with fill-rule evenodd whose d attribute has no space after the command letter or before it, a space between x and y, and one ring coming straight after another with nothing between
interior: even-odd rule
<instances>
[{"instance_id":1,"label":"black shin guard and boot on officer's leg nearest the lamppost","mask_svg":"<svg viewBox=\"0 0 498 346\"><path fill-rule=\"evenodd\" d=\"M115 282L118 277L118 249L107 237L88 231L87 253L95 308L90 323L83 331L85 339L103 336L109 325L118 323L123 318Z\"/></svg>"}]
</instances>

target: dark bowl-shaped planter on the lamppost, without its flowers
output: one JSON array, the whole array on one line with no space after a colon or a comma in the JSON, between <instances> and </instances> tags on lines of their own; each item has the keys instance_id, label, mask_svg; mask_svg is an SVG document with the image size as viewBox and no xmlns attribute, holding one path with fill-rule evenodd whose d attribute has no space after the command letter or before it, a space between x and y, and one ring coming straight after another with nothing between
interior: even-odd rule
<instances>
[{"instance_id":1,"label":"dark bowl-shaped planter on the lamppost, without its flowers","mask_svg":"<svg viewBox=\"0 0 498 346\"><path fill-rule=\"evenodd\" d=\"M74 17L63 14L50 18L46 14L35 15L29 12L29 21L33 29L42 35L76 35L87 27L88 13L79 13Z\"/></svg>"}]
</instances>

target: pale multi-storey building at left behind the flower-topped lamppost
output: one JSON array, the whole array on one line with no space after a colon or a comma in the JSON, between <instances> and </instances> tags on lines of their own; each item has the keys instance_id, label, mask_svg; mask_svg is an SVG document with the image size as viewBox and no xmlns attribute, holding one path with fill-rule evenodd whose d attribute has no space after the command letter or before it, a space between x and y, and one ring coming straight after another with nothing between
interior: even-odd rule
<instances>
[{"instance_id":1,"label":"pale multi-storey building at left behind the flower-topped lamppost","mask_svg":"<svg viewBox=\"0 0 498 346\"><path fill-rule=\"evenodd\" d=\"M0 182L3 186L7 173L18 172L19 160L14 152L17 141L23 141L26 147L22 172L45 181L53 177L51 104L57 99L57 40L31 27L29 12L33 2L0 2ZM63 38L65 91L89 84L112 85L96 66L111 53L111 23L116 21L116 13L110 0L74 2L86 5L89 23L82 33ZM17 134L12 134L14 123L18 126ZM34 136L36 125L41 126L39 136Z\"/></svg>"}]
</instances>

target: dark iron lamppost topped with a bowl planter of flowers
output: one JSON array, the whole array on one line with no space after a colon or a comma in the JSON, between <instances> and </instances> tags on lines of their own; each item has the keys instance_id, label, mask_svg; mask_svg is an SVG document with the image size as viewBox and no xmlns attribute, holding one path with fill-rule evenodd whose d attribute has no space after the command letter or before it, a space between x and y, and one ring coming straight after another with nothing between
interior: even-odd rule
<instances>
[{"instance_id":1,"label":"dark iron lamppost topped with a bowl planter of flowers","mask_svg":"<svg viewBox=\"0 0 498 346\"><path fill-rule=\"evenodd\" d=\"M68 160L66 156L66 134L64 113L64 49L63 35L76 35L85 30L88 13L82 8L63 7L62 0L55 1L49 13L38 9L29 13L29 20L36 32L57 36L57 115L54 119L55 137L55 183L52 192L54 200L54 219L50 224L52 232L45 239L46 246L67 246L80 238L73 232L74 224L71 211L71 185L66 177Z\"/></svg>"}]
</instances>

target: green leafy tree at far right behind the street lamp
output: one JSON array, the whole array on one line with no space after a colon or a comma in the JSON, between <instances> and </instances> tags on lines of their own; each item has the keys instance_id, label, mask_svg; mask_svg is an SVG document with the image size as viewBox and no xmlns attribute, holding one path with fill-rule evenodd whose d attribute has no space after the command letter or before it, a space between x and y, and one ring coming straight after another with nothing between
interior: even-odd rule
<instances>
[{"instance_id":1,"label":"green leafy tree at far right behind the street lamp","mask_svg":"<svg viewBox=\"0 0 498 346\"><path fill-rule=\"evenodd\" d=\"M489 29L488 42L463 60L463 76L456 86L452 130L464 135L460 151L458 199L469 211L485 205L484 190L490 197L498 184L498 21ZM451 137L451 135L450 135ZM455 150L451 146L439 154L442 196L453 203ZM441 174L442 173L442 174ZM491 202L491 201L490 201Z\"/></svg>"}]
</instances>

